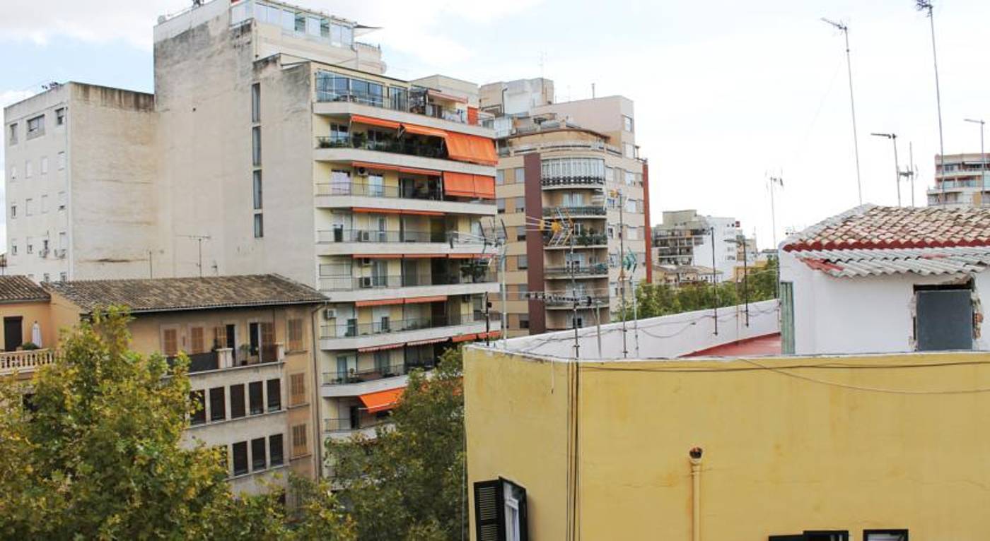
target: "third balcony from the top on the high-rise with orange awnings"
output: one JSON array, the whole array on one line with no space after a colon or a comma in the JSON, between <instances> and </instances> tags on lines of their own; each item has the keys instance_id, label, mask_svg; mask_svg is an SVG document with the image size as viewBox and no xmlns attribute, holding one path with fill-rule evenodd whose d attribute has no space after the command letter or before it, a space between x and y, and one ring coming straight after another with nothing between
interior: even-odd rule
<instances>
[{"instance_id":1,"label":"third balcony from the top on the high-rise with orange awnings","mask_svg":"<svg viewBox=\"0 0 990 541\"><path fill-rule=\"evenodd\" d=\"M316 206L321 209L354 207L444 214L495 216L494 201L447 201L438 182L384 186L367 182L326 182L316 185Z\"/></svg>"}]
</instances>

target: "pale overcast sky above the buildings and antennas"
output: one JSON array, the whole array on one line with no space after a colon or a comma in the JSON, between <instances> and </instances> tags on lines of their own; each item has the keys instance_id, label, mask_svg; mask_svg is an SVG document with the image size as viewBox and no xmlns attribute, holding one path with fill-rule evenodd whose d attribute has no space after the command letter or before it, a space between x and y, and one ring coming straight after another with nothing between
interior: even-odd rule
<instances>
[{"instance_id":1,"label":"pale overcast sky above the buildings and antennas","mask_svg":"<svg viewBox=\"0 0 990 541\"><path fill-rule=\"evenodd\" d=\"M216 0L226 1L226 0ZM151 91L151 27L187 0L7 0L0 17L0 105L48 81ZM485 83L554 80L557 101L622 94L636 103L637 139L660 211L733 216L771 244L767 173L782 172L777 240L857 204L841 34L850 29L865 202L896 205L893 148L914 142L925 204L939 149L929 21L914 0L295 0L382 30L388 74L432 73ZM990 119L986 0L935 0L946 153L979 150ZM606 7L607 6L607 7ZM541 61L542 60L542 61ZM983 99L981 99L983 98ZM2 160L2 156L0 156ZM6 168L4 171L6 172ZM902 185L905 205L910 185ZM6 205L3 206L6 208Z\"/></svg>"}]
</instances>

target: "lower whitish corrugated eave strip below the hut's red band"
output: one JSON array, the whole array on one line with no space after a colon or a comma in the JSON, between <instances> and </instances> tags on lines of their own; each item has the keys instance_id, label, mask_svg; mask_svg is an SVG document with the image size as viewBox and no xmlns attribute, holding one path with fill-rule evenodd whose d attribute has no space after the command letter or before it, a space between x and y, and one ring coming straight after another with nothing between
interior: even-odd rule
<instances>
[{"instance_id":1,"label":"lower whitish corrugated eave strip below the hut's red band","mask_svg":"<svg viewBox=\"0 0 990 541\"><path fill-rule=\"evenodd\" d=\"M837 278L909 272L923 276L972 274L990 266L990 246L804 250L794 255L809 267Z\"/></svg>"}]
</instances>

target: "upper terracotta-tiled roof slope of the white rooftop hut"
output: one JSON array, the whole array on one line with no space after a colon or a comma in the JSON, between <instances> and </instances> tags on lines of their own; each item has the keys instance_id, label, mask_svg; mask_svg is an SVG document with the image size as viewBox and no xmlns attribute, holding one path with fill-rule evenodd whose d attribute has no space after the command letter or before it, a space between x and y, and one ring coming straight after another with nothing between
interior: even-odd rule
<instances>
[{"instance_id":1,"label":"upper terracotta-tiled roof slope of the white rooftop hut","mask_svg":"<svg viewBox=\"0 0 990 541\"><path fill-rule=\"evenodd\" d=\"M990 209L863 205L784 241L785 251L990 246Z\"/></svg>"}]
</instances>

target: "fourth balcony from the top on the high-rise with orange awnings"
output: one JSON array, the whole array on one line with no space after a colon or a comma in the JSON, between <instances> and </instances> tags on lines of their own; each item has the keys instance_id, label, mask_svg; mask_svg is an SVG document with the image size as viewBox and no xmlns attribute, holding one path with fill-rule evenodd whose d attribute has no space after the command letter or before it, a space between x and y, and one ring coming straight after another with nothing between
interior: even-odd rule
<instances>
[{"instance_id":1,"label":"fourth balcony from the top on the high-rise with orange awnings","mask_svg":"<svg viewBox=\"0 0 990 541\"><path fill-rule=\"evenodd\" d=\"M460 231L417 231L409 229L345 229L317 231L318 255L383 253L465 253L480 254L485 245ZM491 248L488 248L489 253Z\"/></svg>"}]
</instances>

